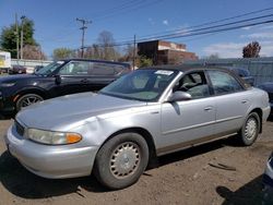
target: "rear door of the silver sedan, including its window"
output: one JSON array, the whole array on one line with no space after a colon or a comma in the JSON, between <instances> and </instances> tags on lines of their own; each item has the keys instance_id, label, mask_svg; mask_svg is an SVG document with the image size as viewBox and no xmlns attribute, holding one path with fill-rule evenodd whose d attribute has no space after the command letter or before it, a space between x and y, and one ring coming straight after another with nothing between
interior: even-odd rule
<instances>
[{"instance_id":1,"label":"rear door of the silver sedan, including its window","mask_svg":"<svg viewBox=\"0 0 273 205\"><path fill-rule=\"evenodd\" d=\"M249 94L239 81L225 71L207 71L214 92L216 106L217 134L232 134L238 131L250 107Z\"/></svg>"}]
</instances>

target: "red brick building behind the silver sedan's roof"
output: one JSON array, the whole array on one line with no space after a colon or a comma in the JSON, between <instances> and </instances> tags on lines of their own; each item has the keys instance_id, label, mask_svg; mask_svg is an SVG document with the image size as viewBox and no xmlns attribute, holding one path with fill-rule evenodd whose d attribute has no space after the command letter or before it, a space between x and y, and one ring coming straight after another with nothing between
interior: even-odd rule
<instances>
[{"instance_id":1,"label":"red brick building behind the silver sedan's roof","mask_svg":"<svg viewBox=\"0 0 273 205\"><path fill-rule=\"evenodd\" d=\"M139 43L138 55L152 59L154 64L179 64L198 59L194 52L186 50L186 45L163 40Z\"/></svg>"}]
</instances>

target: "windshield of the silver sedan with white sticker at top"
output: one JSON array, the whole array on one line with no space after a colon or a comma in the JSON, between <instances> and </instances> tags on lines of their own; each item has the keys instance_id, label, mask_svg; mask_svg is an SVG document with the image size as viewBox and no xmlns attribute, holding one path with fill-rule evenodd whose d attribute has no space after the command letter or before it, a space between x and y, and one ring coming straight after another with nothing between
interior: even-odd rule
<instances>
[{"instance_id":1,"label":"windshield of the silver sedan with white sticker at top","mask_svg":"<svg viewBox=\"0 0 273 205\"><path fill-rule=\"evenodd\" d=\"M141 101L156 101L177 75L171 70L136 70L112 82L99 93Z\"/></svg>"}]
</instances>

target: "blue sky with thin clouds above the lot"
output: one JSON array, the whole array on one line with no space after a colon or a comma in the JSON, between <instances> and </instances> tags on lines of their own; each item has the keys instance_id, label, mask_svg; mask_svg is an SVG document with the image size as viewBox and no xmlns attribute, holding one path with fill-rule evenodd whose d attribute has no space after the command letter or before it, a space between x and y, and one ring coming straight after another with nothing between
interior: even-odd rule
<instances>
[{"instance_id":1,"label":"blue sky with thin clouds above the lot","mask_svg":"<svg viewBox=\"0 0 273 205\"><path fill-rule=\"evenodd\" d=\"M56 48L81 47L82 25L76 17L92 22L85 33L87 46L97 43L103 31L110 32L116 43L170 31L191 34L192 26L269 8L229 22L273 14L273 0L0 0L0 29L14 23L15 13L19 19L27 16L35 24L34 38L50 58ZM216 24L207 26L212 25ZM215 53L239 58L242 47L253 40L262 47L260 56L273 57L273 23L168 39L186 44L187 50L200 58Z\"/></svg>"}]
</instances>

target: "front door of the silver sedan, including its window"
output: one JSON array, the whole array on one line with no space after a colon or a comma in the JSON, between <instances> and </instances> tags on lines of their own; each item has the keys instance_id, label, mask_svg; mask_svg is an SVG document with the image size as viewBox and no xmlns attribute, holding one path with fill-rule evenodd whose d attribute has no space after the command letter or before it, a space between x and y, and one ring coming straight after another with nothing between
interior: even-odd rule
<instances>
[{"instance_id":1,"label":"front door of the silver sedan, including its window","mask_svg":"<svg viewBox=\"0 0 273 205\"><path fill-rule=\"evenodd\" d=\"M192 99L162 105L161 152L190 146L214 135L215 102L203 71L185 75L175 91L191 94Z\"/></svg>"}]
</instances>

